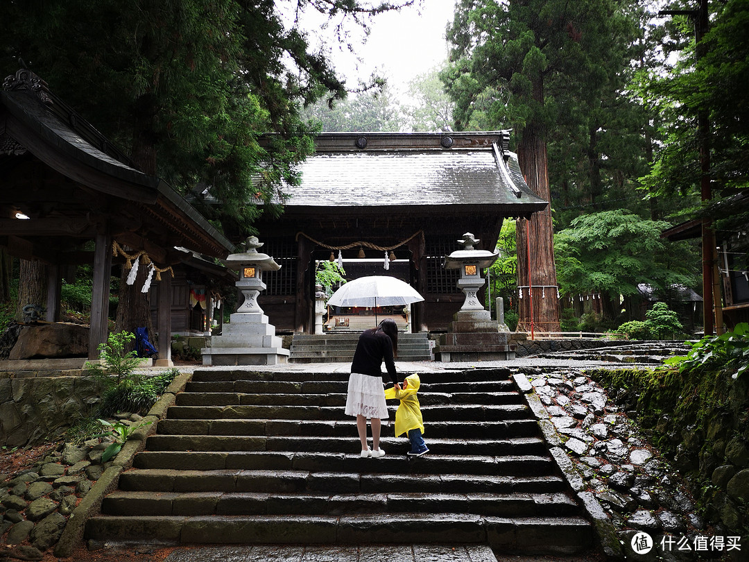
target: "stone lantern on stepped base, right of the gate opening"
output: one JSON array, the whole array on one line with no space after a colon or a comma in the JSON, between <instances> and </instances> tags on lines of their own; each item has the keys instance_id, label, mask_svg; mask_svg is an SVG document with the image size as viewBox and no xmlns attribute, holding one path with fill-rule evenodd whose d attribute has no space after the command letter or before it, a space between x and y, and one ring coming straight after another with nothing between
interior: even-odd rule
<instances>
[{"instance_id":1,"label":"stone lantern on stepped base, right of the gate opening","mask_svg":"<svg viewBox=\"0 0 749 562\"><path fill-rule=\"evenodd\" d=\"M477 293L485 283L481 270L497 261L499 253L476 250L479 240L466 232L456 250L445 256L443 268L460 270L458 288L465 294L463 306L452 317L447 333L440 334L434 347L434 357L445 362L506 360L515 358L515 348L510 345L509 331L500 331L500 322L491 319ZM506 326L501 324L506 330Z\"/></svg>"}]
</instances>

